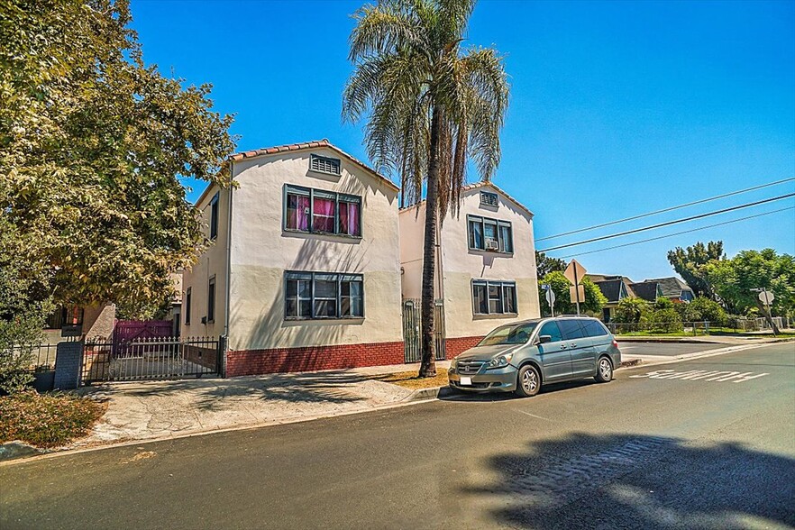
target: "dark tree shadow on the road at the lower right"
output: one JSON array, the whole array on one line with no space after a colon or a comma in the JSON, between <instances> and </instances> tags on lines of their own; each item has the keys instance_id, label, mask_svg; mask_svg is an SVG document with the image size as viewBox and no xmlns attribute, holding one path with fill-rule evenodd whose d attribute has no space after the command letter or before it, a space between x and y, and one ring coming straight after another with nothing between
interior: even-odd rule
<instances>
[{"instance_id":1,"label":"dark tree shadow on the road at the lower right","mask_svg":"<svg viewBox=\"0 0 795 530\"><path fill-rule=\"evenodd\" d=\"M795 525L795 460L737 443L572 434L488 465L497 479L461 492L515 528Z\"/></svg>"}]
</instances>

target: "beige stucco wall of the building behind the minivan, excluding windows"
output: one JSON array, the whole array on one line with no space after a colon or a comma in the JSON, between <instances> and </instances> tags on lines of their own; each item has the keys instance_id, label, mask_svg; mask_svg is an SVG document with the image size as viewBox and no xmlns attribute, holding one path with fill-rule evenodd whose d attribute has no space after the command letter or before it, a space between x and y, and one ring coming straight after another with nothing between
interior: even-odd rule
<instances>
[{"instance_id":1,"label":"beige stucco wall of the building behind the minivan, excluding windows","mask_svg":"<svg viewBox=\"0 0 795 530\"><path fill-rule=\"evenodd\" d=\"M437 296L444 299L444 325L447 337L479 336L489 333L499 324L540 316L535 274L533 217L493 187L486 190L498 194L498 207L480 206L481 189L484 188L477 187L464 191L461 196L460 213L448 214L440 231L442 260L441 271L437 271L437 274L441 274L443 280L442 292L437 293ZM404 297L420 296L425 204L420 206L420 210L418 217L414 210L404 210L400 214ZM467 234L469 214L510 221L514 253L506 255L470 250ZM419 255L416 256L416 253ZM416 257L420 260L415 261ZM407 267L409 262L411 265ZM516 281L518 314L507 317L474 315L472 279Z\"/></svg>"}]
</instances>

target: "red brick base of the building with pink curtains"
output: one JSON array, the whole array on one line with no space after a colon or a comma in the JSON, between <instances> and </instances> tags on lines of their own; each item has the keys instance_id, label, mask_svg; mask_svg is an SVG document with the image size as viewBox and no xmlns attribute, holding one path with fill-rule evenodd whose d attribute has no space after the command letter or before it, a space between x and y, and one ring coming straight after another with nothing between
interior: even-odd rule
<instances>
[{"instance_id":1,"label":"red brick base of the building with pink curtains","mask_svg":"<svg viewBox=\"0 0 795 530\"><path fill-rule=\"evenodd\" d=\"M340 370L361 366L402 364L403 360L403 341L230 351L226 352L226 376Z\"/></svg>"}]
</instances>

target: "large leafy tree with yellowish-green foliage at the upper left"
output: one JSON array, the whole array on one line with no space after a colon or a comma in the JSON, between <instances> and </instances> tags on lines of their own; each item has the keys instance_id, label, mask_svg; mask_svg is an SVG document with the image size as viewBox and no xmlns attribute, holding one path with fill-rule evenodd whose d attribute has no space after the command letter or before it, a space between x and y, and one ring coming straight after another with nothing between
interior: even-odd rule
<instances>
[{"instance_id":1,"label":"large leafy tree with yellowish-green foliage at the upper left","mask_svg":"<svg viewBox=\"0 0 795 530\"><path fill-rule=\"evenodd\" d=\"M180 178L230 184L232 117L209 85L144 64L126 0L0 5L0 215L32 242L18 258L59 303L150 315L206 244Z\"/></svg>"}]
</instances>

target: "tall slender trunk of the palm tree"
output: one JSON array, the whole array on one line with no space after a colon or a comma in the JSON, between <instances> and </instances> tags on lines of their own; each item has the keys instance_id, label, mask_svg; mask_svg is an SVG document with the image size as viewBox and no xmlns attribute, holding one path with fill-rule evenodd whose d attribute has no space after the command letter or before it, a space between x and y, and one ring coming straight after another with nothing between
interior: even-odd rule
<instances>
[{"instance_id":1,"label":"tall slender trunk of the palm tree","mask_svg":"<svg viewBox=\"0 0 795 530\"><path fill-rule=\"evenodd\" d=\"M425 243L423 247L423 299L420 304L420 321L422 326L423 360L420 364L419 377L432 378L436 375L436 344L434 342L434 274L436 271L436 218L438 206L436 199L439 193L439 133L442 122L439 111L434 107L431 117L431 156L428 160L428 190L425 201Z\"/></svg>"}]
</instances>

